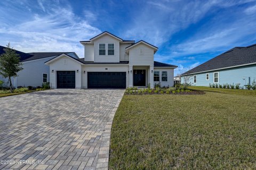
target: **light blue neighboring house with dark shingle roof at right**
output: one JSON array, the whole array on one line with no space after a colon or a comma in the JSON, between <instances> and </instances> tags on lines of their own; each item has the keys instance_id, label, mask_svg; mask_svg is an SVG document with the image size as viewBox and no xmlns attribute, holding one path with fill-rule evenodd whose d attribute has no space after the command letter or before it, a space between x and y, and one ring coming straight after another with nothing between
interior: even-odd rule
<instances>
[{"instance_id":1,"label":"light blue neighboring house with dark shingle roof at right","mask_svg":"<svg viewBox=\"0 0 256 170\"><path fill-rule=\"evenodd\" d=\"M190 77L192 86L209 86L211 83L246 86L256 80L256 44L235 47L211 60L183 73Z\"/></svg>"}]
</instances>

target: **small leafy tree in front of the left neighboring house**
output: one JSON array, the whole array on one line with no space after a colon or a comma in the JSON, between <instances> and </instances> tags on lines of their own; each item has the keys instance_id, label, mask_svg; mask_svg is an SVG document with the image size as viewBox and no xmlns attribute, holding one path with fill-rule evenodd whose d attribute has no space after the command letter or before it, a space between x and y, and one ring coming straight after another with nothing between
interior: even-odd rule
<instances>
[{"instance_id":1,"label":"small leafy tree in front of the left neighboring house","mask_svg":"<svg viewBox=\"0 0 256 170\"><path fill-rule=\"evenodd\" d=\"M20 56L11 48L10 43L4 48L3 54L0 55L0 74L4 78L8 78L10 84L10 91L13 92L11 77L17 77L17 73L21 71L22 64L20 63Z\"/></svg>"}]
</instances>

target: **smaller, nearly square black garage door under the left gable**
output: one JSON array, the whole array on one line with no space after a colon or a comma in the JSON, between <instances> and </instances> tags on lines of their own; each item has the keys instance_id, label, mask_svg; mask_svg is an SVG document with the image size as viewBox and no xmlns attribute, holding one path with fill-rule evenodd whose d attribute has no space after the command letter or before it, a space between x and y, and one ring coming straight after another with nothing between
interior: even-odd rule
<instances>
[{"instance_id":1,"label":"smaller, nearly square black garage door under the left gable","mask_svg":"<svg viewBox=\"0 0 256 170\"><path fill-rule=\"evenodd\" d=\"M58 89L75 89L76 72L75 71L57 71Z\"/></svg>"}]
</instances>

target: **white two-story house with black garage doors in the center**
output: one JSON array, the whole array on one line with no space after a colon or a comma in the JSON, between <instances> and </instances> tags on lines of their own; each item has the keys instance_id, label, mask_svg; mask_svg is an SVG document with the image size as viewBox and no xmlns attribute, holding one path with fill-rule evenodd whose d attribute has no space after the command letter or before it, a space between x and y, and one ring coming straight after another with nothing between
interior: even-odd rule
<instances>
[{"instance_id":1,"label":"white two-story house with black garage doors in the center","mask_svg":"<svg viewBox=\"0 0 256 170\"><path fill-rule=\"evenodd\" d=\"M127 88L173 86L175 65L154 62L158 48L123 40L107 31L87 41L84 58L61 54L45 62L52 88Z\"/></svg>"}]
</instances>

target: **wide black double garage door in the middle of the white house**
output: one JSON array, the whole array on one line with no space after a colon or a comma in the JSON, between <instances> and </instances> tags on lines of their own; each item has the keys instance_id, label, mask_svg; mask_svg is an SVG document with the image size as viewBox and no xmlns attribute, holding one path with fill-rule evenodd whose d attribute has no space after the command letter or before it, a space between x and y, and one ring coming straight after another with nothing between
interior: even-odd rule
<instances>
[{"instance_id":1,"label":"wide black double garage door in the middle of the white house","mask_svg":"<svg viewBox=\"0 0 256 170\"><path fill-rule=\"evenodd\" d=\"M126 88L126 72L87 72L88 88Z\"/></svg>"}]
</instances>

